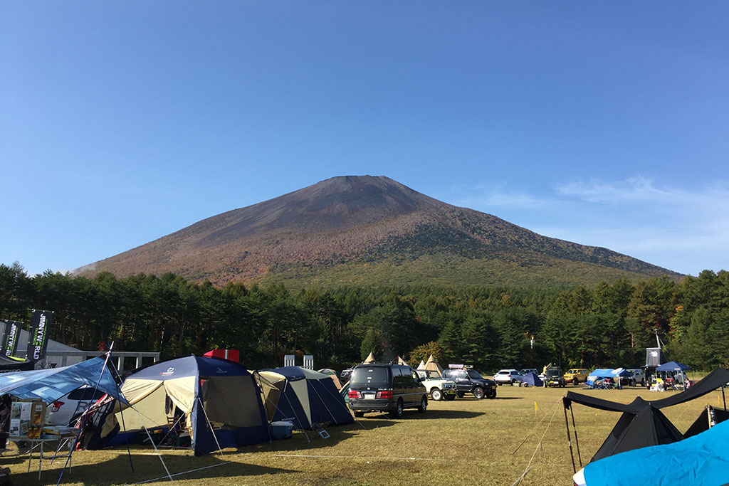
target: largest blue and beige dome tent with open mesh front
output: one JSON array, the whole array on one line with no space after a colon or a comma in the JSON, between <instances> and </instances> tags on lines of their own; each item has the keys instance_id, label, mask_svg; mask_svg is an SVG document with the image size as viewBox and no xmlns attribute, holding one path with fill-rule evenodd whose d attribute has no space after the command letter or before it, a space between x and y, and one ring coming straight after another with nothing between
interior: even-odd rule
<instances>
[{"instance_id":1,"label":"largest blue and beige dome tent with open mesh front","mask_svg":"<svg viewBox=\"0 0 729 486\"><path fill-rule=\"evenodd\" d=\"M129 375L121 389L133 409L117 407L106 418L102 439L120 423L125 428L109 443L142 439L143 428L170 428L176 421L190 434L195 455L270 439L254 377L233 361L205 356L160 361Z\"/></svg>"}]
</instances>

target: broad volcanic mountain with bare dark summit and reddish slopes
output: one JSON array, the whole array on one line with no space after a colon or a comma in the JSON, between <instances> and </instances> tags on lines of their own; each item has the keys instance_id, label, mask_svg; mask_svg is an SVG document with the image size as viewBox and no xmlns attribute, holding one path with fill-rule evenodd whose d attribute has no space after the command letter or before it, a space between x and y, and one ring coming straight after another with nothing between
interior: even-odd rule
<instances>
[{"instance_id":1,"label":"broad volcanic mountain with bare dark summit and reddish slopes","mask_svg":"<svg viewBox=\"0 0 729 486\"><path fill-rule=\"evenodd\" d=\"M547 238L384 176L340 176L192 224L77 270L313 284L576 285L672 273Z\"/></svg>"}]
</instances>

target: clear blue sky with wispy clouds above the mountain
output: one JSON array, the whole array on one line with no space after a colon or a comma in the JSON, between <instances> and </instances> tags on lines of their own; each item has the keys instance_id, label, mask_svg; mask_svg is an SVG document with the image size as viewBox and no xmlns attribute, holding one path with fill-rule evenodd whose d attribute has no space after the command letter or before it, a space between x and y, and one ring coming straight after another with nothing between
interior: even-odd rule
<instances>
[{"instance_id":1,"label":"clear blue sky with wispy clouds above the mountain","mask_svg":"<svg viewBox=\"0 0 729 486\"><path fill-rule=\"evenodd\" d=\"M729 269L729 2L0 0L0 263L340 175Z\"/></svg>"}]
</instances>

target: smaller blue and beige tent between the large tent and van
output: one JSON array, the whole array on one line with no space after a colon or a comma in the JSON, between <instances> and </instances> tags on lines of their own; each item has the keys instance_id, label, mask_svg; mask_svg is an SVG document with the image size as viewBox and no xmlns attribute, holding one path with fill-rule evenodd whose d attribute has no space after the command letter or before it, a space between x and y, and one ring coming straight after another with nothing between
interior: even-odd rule
<instances>
[{"instance_id":1,"label":"smaller blue and beige tent between the large tent and van","mask_svg":"<svg viewBox=\"0 0 729 486\"><path fill-rule=\"evenodd\" d=\"M301 430L319 423L353 423L349 409L327 375L282 367L258 372L268 418L288 420Z\"/></svg>"}]
</instances>

